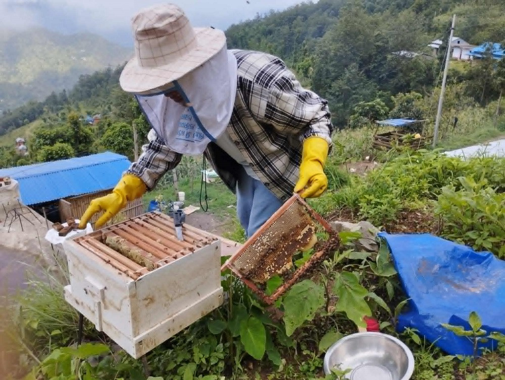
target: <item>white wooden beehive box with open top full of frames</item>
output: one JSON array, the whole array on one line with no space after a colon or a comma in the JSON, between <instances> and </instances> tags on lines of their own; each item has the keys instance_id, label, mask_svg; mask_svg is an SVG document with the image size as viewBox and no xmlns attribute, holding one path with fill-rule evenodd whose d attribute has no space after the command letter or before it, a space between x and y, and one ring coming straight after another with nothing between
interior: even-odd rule
<instances>
[{"instance_id":1,"label":"white wooden beehive box with open top full of frames","mask_svg":"<svg viewBox=\"0 0 505 380\"><path fill-rule=\"evenodd\" d=\"M145 265L106 245L107 236L140 253ZM151 212L69 239L66 301L141 357L223 302L221 242L186 224L183 236L177 239L172 218Z\"/></svg>"}]
</instances>

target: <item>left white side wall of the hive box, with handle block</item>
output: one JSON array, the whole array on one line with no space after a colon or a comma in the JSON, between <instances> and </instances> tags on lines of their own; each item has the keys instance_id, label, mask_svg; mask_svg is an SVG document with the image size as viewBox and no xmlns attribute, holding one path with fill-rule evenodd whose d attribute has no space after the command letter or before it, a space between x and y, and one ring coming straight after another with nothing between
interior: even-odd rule
<instances>
[{"instance_id":1,"label":"left white side wall of the hive box, with handle block","mask_svg":"<svg viewBox=\"0 0 505 380\"><path fill-rule=\"evenodd\" d=\"M67 254L71 293L82 304L76 309L109 335L104 321L113 324L123 335L133 338L131 290L134 280L87 252L72 240L64 243ZM113 338L111 336L111 338ZM119 343L118 343L119 344Z\"/></svg>"}]
</instances>

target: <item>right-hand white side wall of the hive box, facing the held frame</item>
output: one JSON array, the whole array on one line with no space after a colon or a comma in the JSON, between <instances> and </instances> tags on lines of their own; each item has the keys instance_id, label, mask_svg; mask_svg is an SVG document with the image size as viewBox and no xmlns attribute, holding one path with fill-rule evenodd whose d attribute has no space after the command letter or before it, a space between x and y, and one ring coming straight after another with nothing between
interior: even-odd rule
<instances>
[{"instance_id":1,"label":"right-hand white side wall of the hive box, facing the held frame","mask_svg":"<svg viewBox=\"0 0 505 380\"><path fill-rule=\"evenodd\" d=\"M135 335L206 298L221 288L220 242L216 241L135 281Z\"/></svg>"}]
</instances>

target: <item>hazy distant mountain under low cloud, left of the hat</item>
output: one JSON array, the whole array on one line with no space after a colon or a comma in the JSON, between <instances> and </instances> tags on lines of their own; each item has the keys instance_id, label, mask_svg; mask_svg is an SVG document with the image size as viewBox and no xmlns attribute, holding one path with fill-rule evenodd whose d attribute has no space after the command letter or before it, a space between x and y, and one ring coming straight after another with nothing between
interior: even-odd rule
<instances>
[{"instance_id":1,"label":"hazy distant mountain under low cloud, left of the hat","mask_svg":"<svg viewBox=\"0 0 505 380\"><path fill-rule=\"evenodd\" d=\"M0 26L0 112L71 88L79 75L122 64L130 55L129 49L94 34Z\"/></svg>"}]
</instances>

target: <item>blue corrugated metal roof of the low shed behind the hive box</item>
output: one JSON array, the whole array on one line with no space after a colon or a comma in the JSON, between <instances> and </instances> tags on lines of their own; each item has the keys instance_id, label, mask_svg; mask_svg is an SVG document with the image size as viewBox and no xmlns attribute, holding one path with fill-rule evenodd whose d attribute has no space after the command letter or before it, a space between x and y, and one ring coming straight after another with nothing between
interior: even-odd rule
<instances>
[{"instance_id":1,"label":"blue corrugated metal roof of the low shed behind the hive box","mask_svg":"<svg viewBox=\"0 0 505 380\"><path fill-rule=\"evenodd\" d=\"M16 179L21 201L34 205L113 188L129 166L127 157L105 152L0 169L0 177Z\"/></svg>"}]
</instances>

